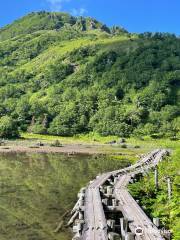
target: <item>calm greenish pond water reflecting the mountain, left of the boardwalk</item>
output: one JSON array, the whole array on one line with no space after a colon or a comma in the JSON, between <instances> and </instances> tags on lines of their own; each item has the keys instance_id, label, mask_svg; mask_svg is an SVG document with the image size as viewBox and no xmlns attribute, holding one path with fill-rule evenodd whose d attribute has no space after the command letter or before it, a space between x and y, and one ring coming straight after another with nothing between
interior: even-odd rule
<instances>
[{"instance_id":1,"label":"calm greenish pond water reflecting the mountain, left of the boardwalk","mask_svg":"<svg viewBox=\"0 0 180 240\"><path fill-rule=\"evenodd\" d=\"M0 155L0 240L70 240L55 233L77 192L104 171L127 161L60 154Z\"/></svg>"}]
</instances>

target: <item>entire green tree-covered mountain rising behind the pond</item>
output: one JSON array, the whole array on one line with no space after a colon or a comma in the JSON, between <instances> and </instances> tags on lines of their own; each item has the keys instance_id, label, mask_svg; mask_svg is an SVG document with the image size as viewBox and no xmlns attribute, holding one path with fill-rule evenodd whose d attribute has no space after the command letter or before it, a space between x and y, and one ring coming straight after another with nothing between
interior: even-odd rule
<instances>
[{"instance_id":1,"label":"entire green tree-covered mountain rising behind the pond","mask_svg":"<svg viewBox=\"0 0 180 240\"><path fill-rule=\"evenodd\" d=\"M95 131L178 138L179 100L175 35L131 34L48 12L0 29L0 137Z\"/></svg>"}]
</instances>

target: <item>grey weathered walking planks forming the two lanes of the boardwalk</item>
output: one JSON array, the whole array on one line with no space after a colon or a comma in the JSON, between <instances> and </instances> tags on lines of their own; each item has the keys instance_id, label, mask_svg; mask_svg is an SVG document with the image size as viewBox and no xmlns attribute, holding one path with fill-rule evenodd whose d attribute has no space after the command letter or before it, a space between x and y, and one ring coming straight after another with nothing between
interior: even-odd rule
<instances>
[{"instance_id":1,"label":"grey weathered walking planks forming the two lanes of the boardwalk","mask_svg":"<svg viewBox=\"0 0 180 240\"><path fill-rule=\"evenodd\" d=\"M129 194L126 186L133 175L157 166L166 154L166 150L155 150L136 164L122 170L104 173L89 184L85 193L85 224L82 240L108 240L107 221L102 205L100 187L110 177L115 177L115 181L110 181L110 184L115 184L113 195L119 202L119 209L122 211L123 216L130 220L129 227L132 233L127 233L124 238L133 239L133 236L136 235L136 239L142 240L163 239L157 227Z\"/></svg>"}]
</instances>

